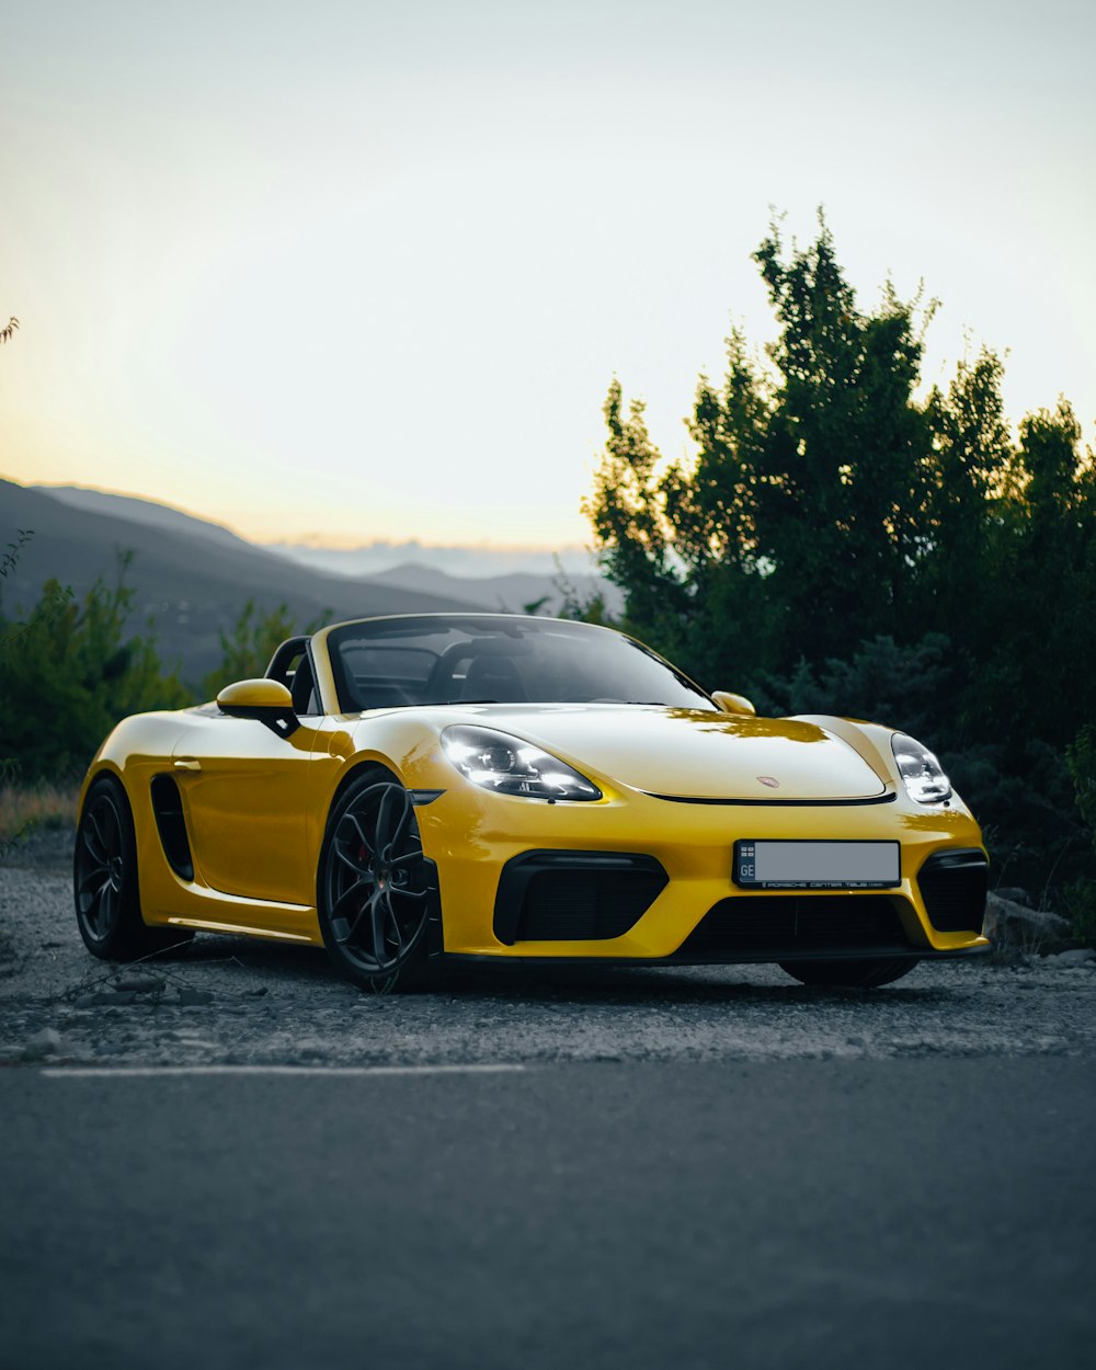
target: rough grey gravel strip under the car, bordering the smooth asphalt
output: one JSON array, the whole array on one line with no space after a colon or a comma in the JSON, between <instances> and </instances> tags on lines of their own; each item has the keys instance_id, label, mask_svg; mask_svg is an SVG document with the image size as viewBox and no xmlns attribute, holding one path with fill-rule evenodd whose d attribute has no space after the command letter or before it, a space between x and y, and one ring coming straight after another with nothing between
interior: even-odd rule
<instances>
[{"instance_id":1,"label":"rough grey gravel strip under the car, bordering the smooth asphalt","mask_svg":"<svg viewBox=\"0 0 1096 1370\"><path fill-rule=\"evenodd\" d=\"M171 960L90 958L70 840L0 864L0 1063L464 1064L1096 1055L1096 955L921 964L873 992L806 989L775 966L460 969L440 993L377 997L321 951L199 936Z\"/></svg>"}]
</instances>

